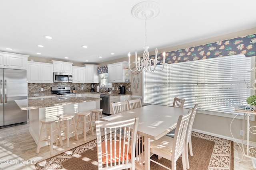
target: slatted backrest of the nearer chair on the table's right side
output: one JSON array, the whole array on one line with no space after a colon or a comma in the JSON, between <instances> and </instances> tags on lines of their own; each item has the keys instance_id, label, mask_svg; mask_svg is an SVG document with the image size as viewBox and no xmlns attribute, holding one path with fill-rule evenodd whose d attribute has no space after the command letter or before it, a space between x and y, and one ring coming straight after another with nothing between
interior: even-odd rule
<instances>
[{"instance_id":1,"label":"slatted backrest of the nearer chair on the table's right side","mask_svg":"<svg viewBox=\"0 0 256 170\"><path fill-rule=\"evenodd\" d=\"M185 142L187 138L188 123L193 109L189 109L188 114L180 115L178 119L176 131L174 133L174 140L172 144L172 161L176 162L176 160L178 160L182 152L184 152Z\"/></svg>"}]
</instances>

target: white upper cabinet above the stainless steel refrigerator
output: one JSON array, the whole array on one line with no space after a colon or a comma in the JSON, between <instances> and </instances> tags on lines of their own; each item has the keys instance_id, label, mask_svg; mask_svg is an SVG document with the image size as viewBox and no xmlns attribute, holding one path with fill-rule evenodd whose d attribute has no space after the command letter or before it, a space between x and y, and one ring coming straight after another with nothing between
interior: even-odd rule
<instances>
[{"instance_id":1,"label":"white upper cabinet above the stainless steel refrigerator","mask_svg":"<svg viewBox=\"0 0 256 170\"><path fill-rule=\"evenodd\" d=\"M0 68L27 69L28 55L0 52Z\"/></svg>"}]
</instances>

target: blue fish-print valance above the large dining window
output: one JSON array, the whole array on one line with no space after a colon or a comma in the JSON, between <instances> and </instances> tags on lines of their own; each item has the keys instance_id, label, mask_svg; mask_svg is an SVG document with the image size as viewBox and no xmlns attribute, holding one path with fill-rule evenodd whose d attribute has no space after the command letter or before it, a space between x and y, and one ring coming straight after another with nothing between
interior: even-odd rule
<instances>
[{"instance_id":1,"label":"blue fish-print valance above the large dining window","mask_svg":"<svg viewBox=\"0 0 256 170\"><path fill-rule=\"evenodd\" d=\"M170 51L166 52L165 63L180 63L237 54L251 57L256 55L254 43L256 43L256 34ZM150 58L154 59L155 55L151 55ZM163 63L162 53L158 54L158 61Z\"/></svg>"}]
</instances>

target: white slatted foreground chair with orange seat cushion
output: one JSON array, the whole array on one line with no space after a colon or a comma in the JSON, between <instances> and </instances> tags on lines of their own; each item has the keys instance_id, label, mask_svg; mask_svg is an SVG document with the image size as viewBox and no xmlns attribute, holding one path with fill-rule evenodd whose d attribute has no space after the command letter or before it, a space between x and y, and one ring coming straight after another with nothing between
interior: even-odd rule
<instances>
[{"instance_id":1,"label":"white slatted foreground chair with orange seat cushion","mask_svg":"<svg viewBox=\"0 0 256 170\"><path fill-rule=\"evenodd\" d=\"M138 127L138 117L124 121L96 120L98 169L135 169L135 144ZM104 129L104 139L101 136ZM117 133L118 130L124 132ZM106 167L103 168L103 164ZM114 168L115 167L115 168Z\"/></svg>"}]
</instances>

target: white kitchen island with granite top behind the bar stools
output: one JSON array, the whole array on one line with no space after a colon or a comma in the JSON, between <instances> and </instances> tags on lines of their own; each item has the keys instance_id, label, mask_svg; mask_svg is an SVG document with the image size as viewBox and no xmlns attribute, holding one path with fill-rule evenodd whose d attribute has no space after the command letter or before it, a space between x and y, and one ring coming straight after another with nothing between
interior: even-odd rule
<instances>
[{"instance_id":1,"label":"white kitchen island with granite top behind the bar stools","mask_svg":"<svg viewBox=\"0 0 256 170\"><path fill-rule=\"evenodd\" d=\"M29 132L37 144L42 125L40 120L47 117L58 117L63 114L75 114L81 111L91 111L92 109L96 108L96 101L99 100L102 99L90 97L53 97L15 100L15 102L21 110L29 110ZM77 121L77 114L75 114L74 119L75 121ZM82 133L82 131L78 131L78 134L80 133ZM44 147L46 145L46 142L41 143L41 147Z\"/></svg>"}]
</instances>

